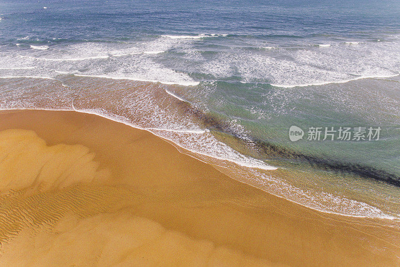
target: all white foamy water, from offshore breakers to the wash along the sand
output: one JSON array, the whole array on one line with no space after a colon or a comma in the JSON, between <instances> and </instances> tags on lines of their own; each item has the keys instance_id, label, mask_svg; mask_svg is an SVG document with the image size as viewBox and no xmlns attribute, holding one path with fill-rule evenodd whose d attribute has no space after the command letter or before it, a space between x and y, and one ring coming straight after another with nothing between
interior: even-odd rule
<instances>
[{"instance_id":1,"label":"all white foamy water, from offshore breakers to the wash along the sand","mask_svg":"<svg viewBox=\"0 0 400 267\"><path fill-rule=\"evenodd\" d=\"M132 127L147 129L194 153L201 160L211 161L227 170L233 169L237 173L245 170L241 177L247 179L247 183L293 202L323 212L393 218L362 201L326 192L311 192L266 175L261 170L273 172L273 166L237 153L206 129L187 118L172 114L170 111L176 107L168 103L185 101L172 93L178 91L151 85L148 86L148 91L138 93L133 85L136 81L143 81L197 86L201 80L194 78L193 73L227 80L231 76L238 76L243 83L270 83L277 87L393 77L399 73L399 40L394 38L391 42L357 45L332 43L326 49L315 45L304 45L301 49L285 48L283 45L279 49L273 49L275 47L272 46L259 49L260 45L256 50L237 48L204 56L195 48L195 43L204 37L224 36L165 36L135 44L79 43L52 45L51 49L30 49L24 43L25 45L17 46L11 52L0 52L0 78L7 80L0 83L20 84L13 91L0 91L0 107L58 107L94 113ZM26 41L28 37L21 40ZM179 53L180 56L174 53ZM29 81L25 84L24 78L44 81ZM8 81L9 79L17 80ZM82 84L74 84L75 79L82 79ZM42 88L43 91L24 91L29 88L28 85L36 83L40 83L40 86L52 83L49 87L58 86L63 90L52 94L46 93L42 87L37 88ZM110 91L99 89L103 83L107 84ZM9 88L9 84L6 88ZM125 90L126 88L129 90ZM88 93L91 91L93 95ZM123 91L123 95L114 96L118 91ZM78 95L80 100L72 98L71 92ZM99 103L92 103L103 95L109 96L99 100ZM82 99L88 99L87 103ZM43 100L48 102L37 104ZM73 108L72 103L79 108ZM123 113L124 110L127 113ZM134 120L131 116L134 116ZM239 125L232 122L232 127Z\"/></svg>"}]
</instances>

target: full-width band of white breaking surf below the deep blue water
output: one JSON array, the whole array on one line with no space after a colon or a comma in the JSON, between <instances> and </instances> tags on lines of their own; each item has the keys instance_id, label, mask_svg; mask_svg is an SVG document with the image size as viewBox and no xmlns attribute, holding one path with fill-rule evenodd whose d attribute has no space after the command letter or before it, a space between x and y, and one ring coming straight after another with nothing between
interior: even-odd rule
<instances>
[{"instance_id":1,"label":"full-width band of white breaking surf below the deep blue water","mask_svg":"<svg viewBox=\"0 0 400 267\"><path fill-rule=\"evenodd\" d=\"M30 45L34 49L27 50L23 45L12 53L0 55L0 65L12 65L8 70L15 66L15 71L17 66L33 65L34 71L26 68L25 73L0 73L0 76L48 77L56 70L195 86L201 80L194 78L192 73L200 73L210 76L211 80L240 77L243 83L291 88L393 77L400 73L400 37L397 36L384 42L279 45L279 49L271 44L263 49L258 46L258 50L238 47L203 56L202 51L196 49L196 42L203 42L206 37L223 40L226 35L168 35L138 43L87 42L52 45L51 49ZM29 40L29 37L21 40ZM6 69L2 68L0 72L3 70Z\"/></svg>"}]
</instances>

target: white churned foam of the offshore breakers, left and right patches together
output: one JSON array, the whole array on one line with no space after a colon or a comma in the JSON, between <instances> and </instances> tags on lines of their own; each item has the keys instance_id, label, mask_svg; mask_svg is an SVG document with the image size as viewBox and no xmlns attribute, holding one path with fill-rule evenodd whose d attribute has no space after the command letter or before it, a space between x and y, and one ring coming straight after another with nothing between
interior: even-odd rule
<instances>
[{"instance_id":1,"label":"white churned foam of the offshore breakers, left and right patches together","mask_svg":"<svg viewBox=\"0 0 400 267\"><path fill-rule=\"evenodd\" d=\"M203 36L216 37L220 35L191 37L202 38ZM352 46L351 48L336 45L321 50L293 50L283 47L279 49L278 56L270 53L259 55L252 51L218 52L212 58L205 59L198 51L191 48L191 44L185 44L182 47L173 40L172 38L157 38L133 47L131 43L82 43L61 49L55 45L53 49L46 52L45 57L32 56L26 51L19 53L24 53L21 54L21 57L43 61L40 63L31 61L30 64L40 66L40 69L44 68L50 72L56 69L71 73L72 70L75 72L78 69L89 68L82 74L180 85L199 84L186 73L210 74L217 79L239 76L241 77L240 82L243 83L270 83L278 87L345 83L368 77L395 76L398 73L398 64L400 64L398 60L400 53L398 53L398 49L395 50L397 43L389 42L375 43L375 46ZM383 45L391 52L384 53L383 50L380 50L379 46ZM274 47L264 47L263 49L270 50ZM182 57L182 60L171 64L162 60L161 53L169 50L179 51L182 54L179 56ZM158 54L162 60L160 63L158 63L159 57L150 57ZM365 54L371 56L365 58L362 56ZM118 58L123 55L149 55L149 57ZM280 55L287 55L287 57L280 57ZM94 61L110 57L115 57L115 59L102 61L101 64ZM44 61L48 61L48 63L44 63ZM200 64L189 64L190 61ZM60 64L56 66L51 62ZM14 65L18 64L24 63L15 62ZM174 71L174 68L185 70L185 73ZM8 74L20 76L19 73ZM29 76L46 75L44 72L32 72L29 73Z\"/></svg>"}]
</instances>

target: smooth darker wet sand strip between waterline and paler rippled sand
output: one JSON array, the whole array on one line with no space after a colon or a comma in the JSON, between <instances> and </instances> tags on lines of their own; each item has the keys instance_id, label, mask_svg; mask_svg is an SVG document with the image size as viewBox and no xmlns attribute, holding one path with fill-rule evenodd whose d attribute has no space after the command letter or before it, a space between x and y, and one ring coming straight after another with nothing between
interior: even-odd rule
<instances>
[{"instance_id":1,"label":"smooth darker wet sand strip between waterline and paler rippled sand","mask_svg":"<svg viewBox=\"0 0 400 267\"><path fill-rule=\"evenodd\" d=\"M323 264L328 260L334 265L399 262L396 251L400 236L393 228L398 229L394 221L390 225L381 219L346 217L306 208L232 179L211 164L180 153L170 142L149 131L74 111L18 110L0 112L0 118L1 131L32 130L50 148L57 144L78 145L95 153L90 157L98 162L96 169L108 170L110 175L96 183L113 184L129 191L122 201L125 207L111 205L113 213L124 210L131 214L127 217L154 221L167 231L183 234L184 238L207 240L213 244L212 251L223 247L230 257L235 255L244 260L241 262L290 265ZM69 215L60 216L69 227L66 232L74 232L74 223L103 216L104 212L96 214L72 222L64 221ZM59 223L49 227L58 227ZM36 230L43 237L43 230ZM5 244L5 254L10 252L7 247L25 247L26 243L19 238L21 234ZM55 238L51 234L44 237ZM174 242L172 247L181 249ZM204 248L203 245L196 243L198 249ZM218 258L227 260L229 256Z\"/></svg>"}]
</instances>

